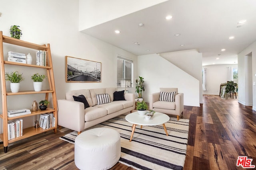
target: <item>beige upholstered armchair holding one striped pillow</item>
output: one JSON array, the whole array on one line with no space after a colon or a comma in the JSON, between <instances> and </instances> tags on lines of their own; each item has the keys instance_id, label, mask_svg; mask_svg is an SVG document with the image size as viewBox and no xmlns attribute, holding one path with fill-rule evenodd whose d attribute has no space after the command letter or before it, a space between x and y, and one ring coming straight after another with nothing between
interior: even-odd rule
<instances>
[{"instance_id":1,"label":"beige upholstered armchair holding one striped pillow","mask_svg":"<svg viewBox=\"0 0 256 170\"><path fill-rule=\"evenodd\" d=\"M184 110L184 94L178 93L178 88L160 88L160 92L150 94L149 109L176 115L179 120Z\"/></svg>"}]
</instances>

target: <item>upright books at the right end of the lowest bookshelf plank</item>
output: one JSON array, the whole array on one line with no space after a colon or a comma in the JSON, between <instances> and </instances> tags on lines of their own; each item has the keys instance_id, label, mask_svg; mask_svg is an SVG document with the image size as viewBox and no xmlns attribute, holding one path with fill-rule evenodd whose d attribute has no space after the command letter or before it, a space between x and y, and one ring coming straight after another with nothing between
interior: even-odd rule
<instances>
[{"instance_id":1,"label":"upright books at the right end of the lowest bookshelf plank","mask_svg":"<svg viewBox=\"0 0 256 170\"><path fill-rule=\"evenodd\" d=\"M55 127L55 117L53 117L53 113L40 114L39 126L43 129Z\"/></svg>"}]
</instances>

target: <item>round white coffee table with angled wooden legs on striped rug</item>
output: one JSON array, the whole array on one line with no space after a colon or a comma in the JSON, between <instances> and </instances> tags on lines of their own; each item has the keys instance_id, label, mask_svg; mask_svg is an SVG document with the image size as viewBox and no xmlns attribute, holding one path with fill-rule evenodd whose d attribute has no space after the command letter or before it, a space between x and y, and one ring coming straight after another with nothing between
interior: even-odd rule
<instances>
[{"instance_id":1,"label":"round white coffee table with angled wooden legs on striped rug","mask_svg":"<svg viewBox=\"0 0 256 170\"><path fill-rule=\"evenodd\" d=\"M132 141L132 136L133 136L136 125L140 125L140 129L142 128L142 126L163 125L166 136L168 136L166 127L164 125L164 123L170 120L170 117L168 115L164 113L156 112L150 120L145 120L144 117L145 115L139 115L137 111L126 115L125 117L126 121L133 124L130 141Z\"/></svg>"}]
</instances>

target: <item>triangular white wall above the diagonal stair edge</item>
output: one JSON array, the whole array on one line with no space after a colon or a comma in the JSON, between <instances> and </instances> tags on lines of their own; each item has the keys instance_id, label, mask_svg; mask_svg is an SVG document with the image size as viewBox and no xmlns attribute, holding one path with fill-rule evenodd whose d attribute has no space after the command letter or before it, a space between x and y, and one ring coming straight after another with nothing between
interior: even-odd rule
<instances>
[{"instance_id":1,"label":"triangular white wall above the diagonal stair edge","mask_svg":"<svg viewBox=\"0 0 256 170\"><path fill-rule=\"evenodd\" d=\"M199 80L200 103L203 103L202 93L202 53L196 49L160 53L160 56L178 66L197 80Z\"/></svg>"}]
</instances>

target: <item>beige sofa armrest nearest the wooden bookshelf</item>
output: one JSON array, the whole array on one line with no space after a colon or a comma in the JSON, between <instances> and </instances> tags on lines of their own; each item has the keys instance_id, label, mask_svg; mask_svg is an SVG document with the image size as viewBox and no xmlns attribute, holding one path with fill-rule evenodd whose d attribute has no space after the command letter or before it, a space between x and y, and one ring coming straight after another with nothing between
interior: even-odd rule
<instances>
[{"instance_id":1,"label":"beige sofa armrest nearest the wooden bookshelf","mask_svg":"<svg viewBox=\"0 0 256 170\"><path fill-rule=\"evenodd\" d=\"M84 130L84 104L72 100L57 100L58 125L74 131Z\"/></svg>"}]
</instances>

